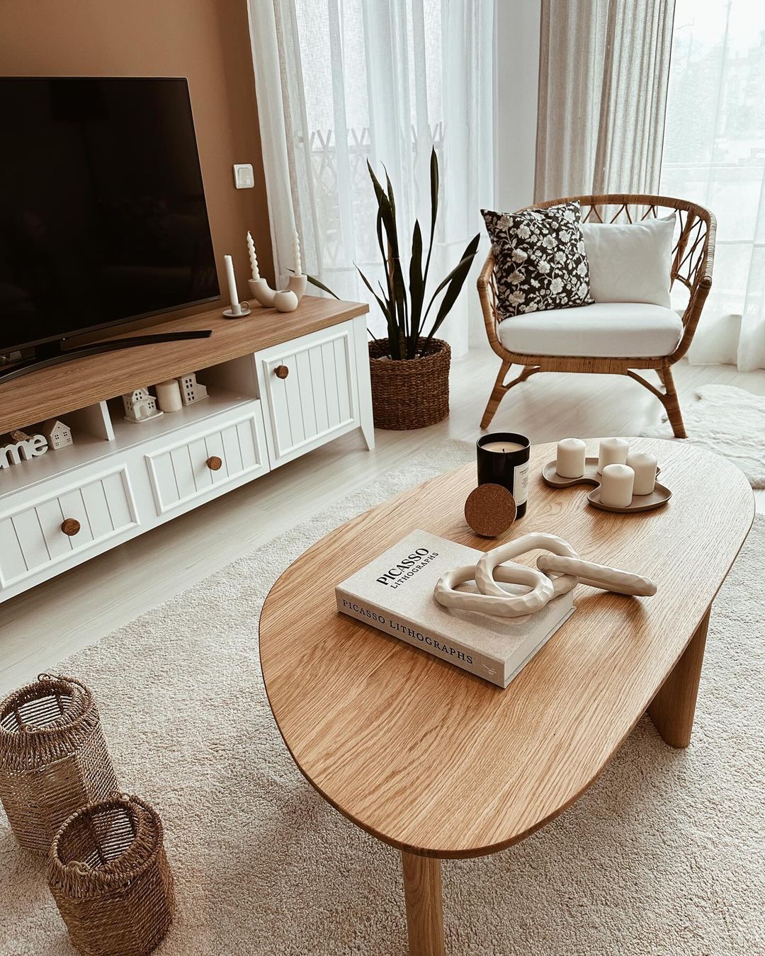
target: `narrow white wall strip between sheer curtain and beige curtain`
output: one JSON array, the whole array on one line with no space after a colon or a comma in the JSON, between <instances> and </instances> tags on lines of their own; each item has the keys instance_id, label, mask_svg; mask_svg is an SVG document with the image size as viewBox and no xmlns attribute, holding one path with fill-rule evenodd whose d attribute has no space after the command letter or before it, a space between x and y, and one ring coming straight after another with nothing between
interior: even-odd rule
<instances>
[{"instance_id":1,"label":"narrow white wall strip between sheer curtain and beige curtain","mask_svg":"<svg viewBox=\"0 0 765 956\"><path fill-rule=\"evenodd\" d=\"M512 212L534 198L539 0L497 0L497 208Z\"/></svg>"}]
</instances>

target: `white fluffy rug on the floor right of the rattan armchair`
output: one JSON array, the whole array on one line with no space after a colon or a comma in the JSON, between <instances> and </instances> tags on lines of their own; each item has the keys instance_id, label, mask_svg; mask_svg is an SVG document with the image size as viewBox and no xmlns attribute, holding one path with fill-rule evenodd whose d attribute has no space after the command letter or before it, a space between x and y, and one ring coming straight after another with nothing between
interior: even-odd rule
<instances>
[{"instance_id":1,"label":"white fluffy rug on the floor right of the rattan armchair","mask_svg":"<svg viewBox=\"0 0 765 956\"><path fill-rule=\"evenodd\" d=\"M765 488L765 396L733 385L702 385L698 402L686 402L688 441L730 458L753 488ZM646 429L649 438L672 438L668 424Z\"/></svg>"}]
</instances>

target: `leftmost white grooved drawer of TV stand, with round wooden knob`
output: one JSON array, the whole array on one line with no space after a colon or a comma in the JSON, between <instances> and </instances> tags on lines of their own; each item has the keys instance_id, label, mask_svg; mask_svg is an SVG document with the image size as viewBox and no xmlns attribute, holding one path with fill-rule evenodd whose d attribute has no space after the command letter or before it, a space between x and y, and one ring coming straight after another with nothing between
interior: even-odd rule
<instances>
[{"instance_id":1,"label":"leftmost white grooved drawer of TV stand, with round wooden knob","mask_svg":"<svg viewBox=\"0 0 765 956\"><path fill-rule=\"evenodd\" d=\"M1 507L1 506L0 506ZM64 563L138 524L124 466L0 511L0 587Z\"/></svg>"}]
</instances>

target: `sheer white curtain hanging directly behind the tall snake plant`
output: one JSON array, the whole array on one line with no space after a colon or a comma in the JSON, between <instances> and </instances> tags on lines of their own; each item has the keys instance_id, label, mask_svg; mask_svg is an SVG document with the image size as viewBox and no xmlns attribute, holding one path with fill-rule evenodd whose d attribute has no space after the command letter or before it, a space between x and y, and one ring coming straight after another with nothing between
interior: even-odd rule
<instances>
[{"instance_id":1,"label":"sheer white curtain hanging directly behind the tall snake plant","mask_svg":"<svg viewBox=\"0 0 765 956\"><path fill-rule=\"evenodd\" d=\"M415 217L429 221L432 146L441 190L430 274L440 281L456 265L494 198L493 7L250 0L277 277L292 265L295 225L304 269L340 297L370 301L355 266L383 279L366 163L378 175L387 169L406 250ZM439 333L457 356L467 351L469 312L477 316L470 279ZM369 324L385 334L374 303Z\"/></svg>"}]
</instances>

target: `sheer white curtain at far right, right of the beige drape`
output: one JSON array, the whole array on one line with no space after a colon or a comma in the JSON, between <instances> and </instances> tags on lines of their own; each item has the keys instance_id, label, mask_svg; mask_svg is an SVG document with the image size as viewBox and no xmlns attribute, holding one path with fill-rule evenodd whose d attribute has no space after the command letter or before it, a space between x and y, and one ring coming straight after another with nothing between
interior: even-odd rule
<instances>
[{"instance_id":1,"label":"sheer white curtain at far right, right of the beige drape","mask_svg":"<svg viewBox=\"0 0 765 956\"><path fill-rule=\"evenodd\" d=\"M717 217L697 363L765 368L765 4L676 0L662 192Z\"/></svg>"}]
</instances>

